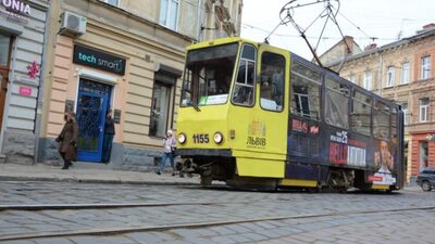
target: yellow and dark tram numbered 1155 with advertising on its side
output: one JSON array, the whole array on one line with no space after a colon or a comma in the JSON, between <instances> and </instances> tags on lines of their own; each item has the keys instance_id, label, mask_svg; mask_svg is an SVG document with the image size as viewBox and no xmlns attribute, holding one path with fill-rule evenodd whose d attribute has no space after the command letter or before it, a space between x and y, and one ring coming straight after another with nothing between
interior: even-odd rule
<instances>
[{"instance_id":1,"label":"yellow and dark tram numbered 1155 with advertising on its side","mask_svg":"<svg viewBox=\"0 0 435 244\"><path fill-rule=\"evenodd\" d=\"M187 48L177 154L202 184L390 191L403 184L401 120L287 50L223 38Z\"/></svg>"}]
</instances>

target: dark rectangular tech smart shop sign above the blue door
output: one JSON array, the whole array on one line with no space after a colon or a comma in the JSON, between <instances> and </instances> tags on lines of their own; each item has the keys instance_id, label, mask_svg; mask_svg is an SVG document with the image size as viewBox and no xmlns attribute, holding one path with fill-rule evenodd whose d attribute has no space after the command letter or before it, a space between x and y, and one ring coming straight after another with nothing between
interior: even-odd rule
<instances>
[{"instance_id":1,"label":"dark rectangular tech smart shop sign above the blue door","mask_svg":"<svg viewBox=\"0 0 435 244\"><path fill-rule=\"evenodd\" d=\"M80 44L74 46L73 63L99 68L122 76L125 74L125 59Z\"/></svg>"}]
</instances>

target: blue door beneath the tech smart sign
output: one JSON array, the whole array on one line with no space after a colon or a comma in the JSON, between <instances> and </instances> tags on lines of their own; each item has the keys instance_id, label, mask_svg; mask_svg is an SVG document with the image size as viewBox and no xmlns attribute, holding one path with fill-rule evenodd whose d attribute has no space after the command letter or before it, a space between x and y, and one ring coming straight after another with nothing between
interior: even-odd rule
<instances>
[{"instance_id":1,"label":"blue door beneath the tech smart sign","mask_svg":"<svg viewBox=\"0 0 435 244\"><path fill-rule=\"evenodd\" d=\"M110 104L111 88L108 85L80 79L76 113L78 160L101 162L105 113Z\"/></svg>"}]
</instances>

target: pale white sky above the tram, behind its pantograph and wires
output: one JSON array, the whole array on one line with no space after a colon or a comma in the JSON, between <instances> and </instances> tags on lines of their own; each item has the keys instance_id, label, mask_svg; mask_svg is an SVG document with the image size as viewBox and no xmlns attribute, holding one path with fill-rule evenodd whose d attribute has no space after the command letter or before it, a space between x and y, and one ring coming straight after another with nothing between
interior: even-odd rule
<instances>
[{"instance_id":1,"label":"pale white sky above the tram, behind its pantograph and wires","mask_svg":"<svg viewBox=\"0 0 435 244\"><path fill-rule=\"evenodd\" d=\"M296 0L290 3L303 4L316 0ZM291 2L290 0L244 0L241 18L241 37L259 42L264 41L272 30L281 23L279 11ZM376 43L384 46L415 35L423 25L435 23L435 0L337 0L330 1L333 10L337 10L336 20L339 28L331 18L325 25L323 35L322 28L326 16L320 16L324 10L323 3L309 7L295 8L291 11L295 22L306 28L304 33L313 47L318 47L318 55L327 51L344 36L352 36L361 49ZM287 12L284 12L286 16ZM320 17L319 17L320 16ZM339 31L340 29L340 31ZM373 39L376 38L376 39ZM291 25L279 25L270 36L269 42L287 50L290 50L308 60L312 60L307 43L300 34Z\"/></svg>"}]
</instances>

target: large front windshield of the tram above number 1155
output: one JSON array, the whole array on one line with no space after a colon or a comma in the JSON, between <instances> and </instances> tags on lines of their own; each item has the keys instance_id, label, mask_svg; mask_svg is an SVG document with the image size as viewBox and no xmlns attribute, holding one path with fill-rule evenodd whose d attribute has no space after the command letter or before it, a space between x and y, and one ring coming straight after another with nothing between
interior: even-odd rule
<instances>
[{"instance_id":1,"label":"large front windshield of the tram above number 1155","mask_svg":"<svg viewBox=\"0 0 435 244\"><path fill-rule=\"evenodd\" d=\"M236 63L238 43L191 50L187 53L182 106L224 104Z\"/></svg>"}]
</instances>

